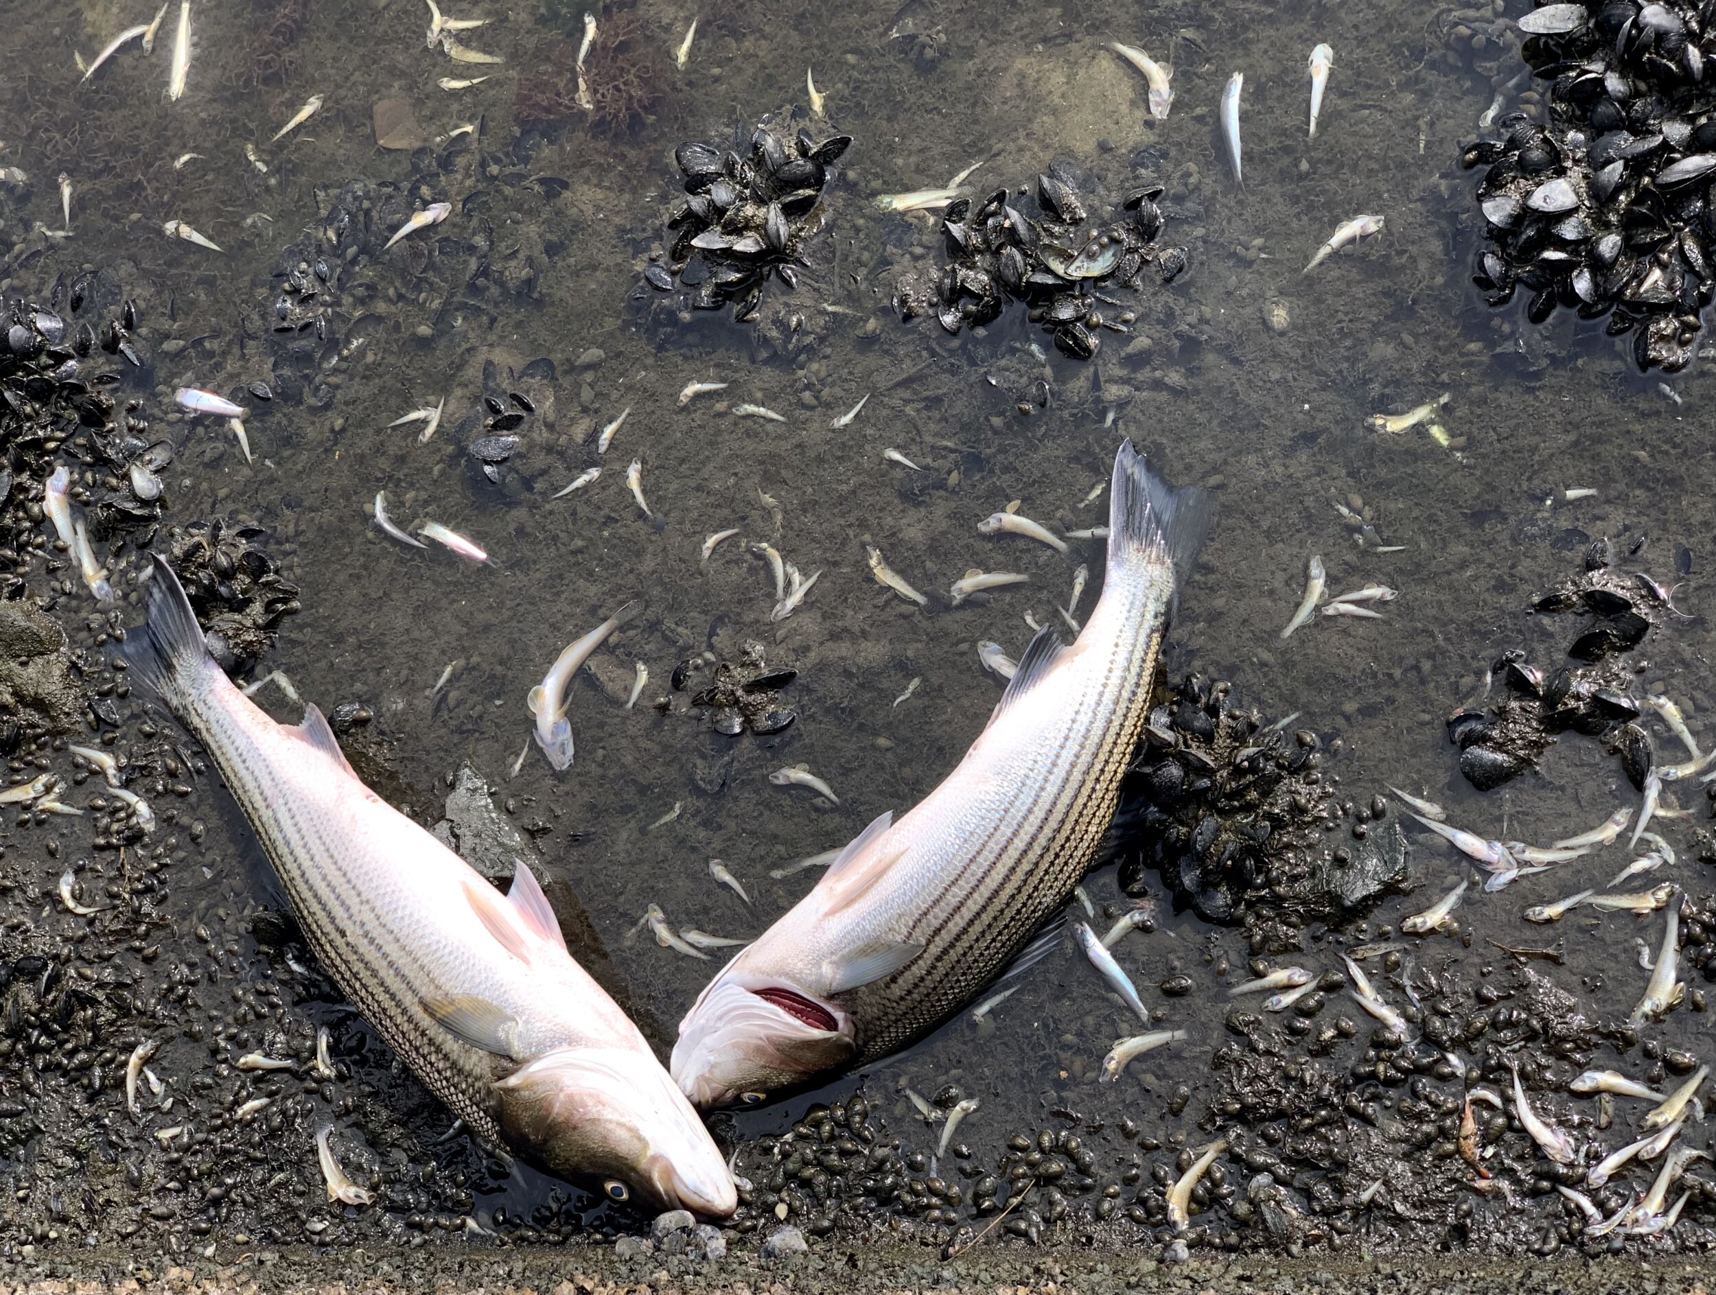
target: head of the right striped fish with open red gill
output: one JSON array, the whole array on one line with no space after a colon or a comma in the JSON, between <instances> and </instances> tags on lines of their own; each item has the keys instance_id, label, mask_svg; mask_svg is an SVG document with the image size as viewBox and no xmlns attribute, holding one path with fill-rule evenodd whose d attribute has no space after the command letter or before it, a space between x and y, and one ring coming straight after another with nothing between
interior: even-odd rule
<instances>
[{"instance_id":1,"label":"head of the right striped fish with open red gill","mask_svg":"<svg viewBox=\"0 0 1716 1295\"><path fill-rule=\"evenodd\" d=\"M798 985L724 974L680 1022L673 1077L704 1110L755 1105L851 1062L855 1034L841 1007Z\"/></svg>"}]
</instances>

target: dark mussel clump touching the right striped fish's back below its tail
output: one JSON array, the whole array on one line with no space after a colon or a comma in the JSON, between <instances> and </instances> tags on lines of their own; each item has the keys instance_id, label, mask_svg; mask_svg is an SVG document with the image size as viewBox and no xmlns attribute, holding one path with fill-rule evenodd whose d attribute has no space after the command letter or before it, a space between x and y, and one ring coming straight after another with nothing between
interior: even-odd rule
<instances>
[{"instance_id":1,"label":"dark mussel clump touching the right striped fish's back below its tail","mask_svg":"<svg viewBox=\"0 0 1716 1295\"><path fill-rule=\"evenodd\" d=\"M1121 888L1141 895L1157 871L1175 902L1224 925L1253 909L1302 925L1369 907L1404 878L1404 852L1376 822L1387 806L1337 804L1321 763L1309 729L1266 727L1227 683L1187 676L1150 712L1121 786L1103 846Z\"/></svg>"}]
</instances>

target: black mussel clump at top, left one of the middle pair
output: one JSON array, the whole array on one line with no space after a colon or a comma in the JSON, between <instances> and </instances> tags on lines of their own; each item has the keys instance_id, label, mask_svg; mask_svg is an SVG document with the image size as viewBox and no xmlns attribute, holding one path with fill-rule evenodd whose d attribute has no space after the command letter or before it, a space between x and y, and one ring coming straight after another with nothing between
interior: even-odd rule
<instances>
[{"instance_id":1,"label":"black mussel clump at top, left one of the middle pair","mask_svg":"<svg viewBox=\"0 0 1716 1295\"><path fill-rule=\"evenodd\" d=\"M798 286L795 262L822 228L822 189L851 136L820 144L808 130L782 141L758 125L746 153L688 141L673 151L685 175L685 197L668 211L666 261L650 261L644 281L678 292L690 310L719 310L733 302L740 322L757 317L762 290L774 274Z\"/></svg>"}]
</instances>

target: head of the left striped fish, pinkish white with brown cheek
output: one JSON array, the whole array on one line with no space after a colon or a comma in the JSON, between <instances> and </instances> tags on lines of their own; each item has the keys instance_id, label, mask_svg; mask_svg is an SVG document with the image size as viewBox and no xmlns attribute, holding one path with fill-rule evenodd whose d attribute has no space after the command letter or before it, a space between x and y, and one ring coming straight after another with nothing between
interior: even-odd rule
<instances>
[{"instance_id":1,"label":"head of the left striped fish, pinkish white with brown cheek","mask_svg":"<svg viewBox=\"0 0 1716 1295\"><path fill-rule=\"evenodd\" d=\"M599 1175L657 1209L728 1218L738 1189L721 1151L645 1050L563 1048L496 1084L506 1144L563 1178Z\"/></svg>"}]
</instances>

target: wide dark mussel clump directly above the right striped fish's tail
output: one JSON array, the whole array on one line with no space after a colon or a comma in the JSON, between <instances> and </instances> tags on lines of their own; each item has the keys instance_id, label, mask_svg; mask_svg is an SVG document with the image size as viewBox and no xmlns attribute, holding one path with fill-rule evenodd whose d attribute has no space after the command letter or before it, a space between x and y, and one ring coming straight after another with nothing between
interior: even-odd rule
<instances>
[{"instance_id":1,"label":"wide dark mussel clump directly above the right striped fish's tail","mask_svg":"<svg viewBox=\"0 0 1716 1295\"><path fill-rule=\"evenodd\" d=\"M1074 178L1038 175L1035 197L997 189L982 202L951 202L942 218L947 262L934 278L901 283L901 317L932 314L958 334L994 322L1021 300L1055 346L1078 360L1097 353L1102 329L1126 333L1131 316L1105 290L1136 290L1151 266L1167 283L1186 268L1186 250L1155 244L1158 187L1134 189L1117 220L1097 221Z\"/></svg>"}]
</instances>

